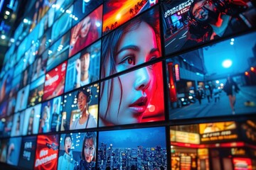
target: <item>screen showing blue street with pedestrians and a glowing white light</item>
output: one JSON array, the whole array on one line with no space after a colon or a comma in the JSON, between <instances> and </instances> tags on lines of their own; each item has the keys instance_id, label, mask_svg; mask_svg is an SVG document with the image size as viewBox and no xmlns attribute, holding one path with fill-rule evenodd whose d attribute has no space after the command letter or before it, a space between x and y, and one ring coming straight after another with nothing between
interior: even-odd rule
<instances>
[{"instance_id":1,"label":"screen showing blue street with pedestrians and a glowing white light","mask_svg":"<svg viewBox=\"0 0 256 170\"><path fill-rule=\"evenodd\" d=\"M166 60L169 118L255 113L256 33Z\"/></svg>"}]
</instances>

